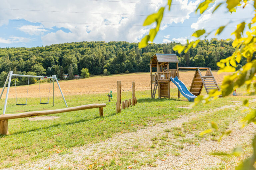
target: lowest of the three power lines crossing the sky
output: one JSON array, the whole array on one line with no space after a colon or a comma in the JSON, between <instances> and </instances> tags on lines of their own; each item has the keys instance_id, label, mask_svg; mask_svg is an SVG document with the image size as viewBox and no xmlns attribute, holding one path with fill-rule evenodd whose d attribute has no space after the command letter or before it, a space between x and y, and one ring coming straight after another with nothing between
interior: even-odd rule
<instances>
[{"instance_id":1,"label":"lowest of the three power lines crossing the sky","mask_svg":"<svg viewBox=\"0 0 256 170\"><path fill-rule=\"evenodd\" d=\"M104 23L80 23L80 22L58 22L58 21L28 21L28 20L8 20L0 19L1 21L20 21L20 22L37 22L37 23L63 23L63 24L91 24L91 25L120 25L120 26L142 26L136 24L104 24ZM149 25L153 26L153 25ZM191 27L191 26L167 26L167 27ZM198 27L198 28L219 28L219 27ZM235 28L235 27L226 27L226 28Z\"/></svg>"}]
</instances>

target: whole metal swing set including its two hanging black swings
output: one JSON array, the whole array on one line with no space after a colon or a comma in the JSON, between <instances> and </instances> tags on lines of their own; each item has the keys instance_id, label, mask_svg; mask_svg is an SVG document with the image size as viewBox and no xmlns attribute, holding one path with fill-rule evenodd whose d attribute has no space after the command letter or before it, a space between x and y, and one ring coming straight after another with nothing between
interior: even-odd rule
<instances>
[{"instance_id":1,"label":"whole metal swing set including its two hanging black swings","mask_svg":"<svg viewBox=\"0 0 256 170\"><path fill-rule=\"evenodd\" d=\"M4 92L4 89L6 87L6 84L8 82L8 86L7 86L7 92L6 92L6 98L5 98L5 102L4 102L4 110L3 110L3 115L5 114L5 111L6 111L6 106L7 106L7 100L8 100L8 94L9 94L9 89L10 89L10 85L11 85L11 79L12 77L14 77L14 80L15 80L15 93L16 93L16 105L18 106L23 106L23 105L27 105L27 99L28 99L28 87L27 87L27 97L26 97L26 102L25 103L18 103L18 100L17 100L17 91L16 91L16 78L17 77L28 77L28 85L29 86L29 78L38 78L38 84L39 84L39 96L40 96L40 104L49 104L49 98L50 98L50 89L51 89L51 81L53 83L53 106L54 106L54 80L57 82L58 84L58 87L60 89L60 93L62 95L62 98L65 102L65 105L66 107L68 107L67 103L66 103L66 100L64 98L64 95L61 91L61 88L60 88L60 85L59 85L59 82L57 80L57 77L56 75L52 75L52 77L43 77L43 76L32 76L32 75L22 75L22 74L13 74L12 71L10 71L7 75L7 78L6 78L6 81L4 83L4 87L2 89L2 92L1 92L1 95L0 95L0 99L2 98L2 95L3 95L3 92ZM41 78L45 78L45 79L49 79L50 80L50 85L49 85L49 93L48 93L48 101L47 102L42 102L41 101L41 92L40 92L40 79Z\"/></svg>"}]
</instances>

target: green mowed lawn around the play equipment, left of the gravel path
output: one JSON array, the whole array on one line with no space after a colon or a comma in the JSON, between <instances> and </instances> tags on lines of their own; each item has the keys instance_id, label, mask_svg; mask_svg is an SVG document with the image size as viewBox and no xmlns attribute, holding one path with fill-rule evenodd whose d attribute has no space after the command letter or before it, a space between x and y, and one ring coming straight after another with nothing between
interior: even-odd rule
<instances>
[{"instance_id":1,"label":"green mowed lawn around the play equipment, left of the gravel path","mask_svg":"<svg viewBox=\"0 0 256 170\"><path fill-rule=\"evenodd\" d=\"M177 88L171 89L172 99L151 99L150 91L136 91L137 105L116 114L116 94L112 102L104 107L104 117L99 117L99 110L90 109L76 112L54 114L55 120L29 121L27 118L8 121L9 135L0 135L0 168L14 164L35 161L51 154L65 154L72 147L106 140L115 134L136 131L156 123L177 119L189 112L214 109L232 104L229 100L243 101L248 96L220 98L209 105L198 105L191 110L177 108L189 106L184 97L177 98ZM131 98L131 92L122 92L122 101ZM65 96L69 107L91 103L106 103L107 94ZM156 96L157 98L157 96ZM19 103L25 98L18 99ZM43 98L42 101L46 101ZM39 98L29 98L28 105L16 106L16 99L8 99L6 114L36 110L65 108L61 97L55 98L53 107L40 105ZM3 111L4 100L0 101Z\"/></svg>"}]
</instances>

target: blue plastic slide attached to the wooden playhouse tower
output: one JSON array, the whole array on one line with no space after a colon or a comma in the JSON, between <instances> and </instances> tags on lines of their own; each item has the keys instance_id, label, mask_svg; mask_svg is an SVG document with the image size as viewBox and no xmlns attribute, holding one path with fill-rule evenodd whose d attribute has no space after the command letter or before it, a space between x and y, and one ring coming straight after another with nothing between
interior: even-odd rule
<instances>
[{"instance_id":1,"label":"blue plastic slide attached to the wooden playhouse tower","mask_svg":"<svg viewBox=\"0 0 256 170\"><path fill-rule=\"evenodd\" d=\"M188 99L188 101L193 102L194 99L196 98L195 95L190 93L190 91L187 89L184 83L178 79L176 76L175 78L170 77L170 80L178 87L180 93Z\"/></svg>"}]
</instances>

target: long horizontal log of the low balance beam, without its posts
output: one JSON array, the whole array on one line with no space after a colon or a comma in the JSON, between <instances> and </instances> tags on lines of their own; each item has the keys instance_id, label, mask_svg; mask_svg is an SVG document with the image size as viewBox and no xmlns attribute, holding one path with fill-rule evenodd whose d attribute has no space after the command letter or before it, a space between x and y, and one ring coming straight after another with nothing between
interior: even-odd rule
<instances>
[{"instance_id":1,"label":"long horizontal log of the low balance beam, without its posts","mask_svg":"<svg viewBox=\"0 0 256 170\"><path fill-rule=\"evenodd\" d=\"M64 108L64 109L56 109L56 110L45 110L45 111L32 111L32 112L25 112L25 113L15 113L15 114L5 114L0 115L0 121L9 120L9 119L17 119L17 118L27 118L32 116L41 116L41 115L51 115L57 113L64 113L64 112L73 112L78 110L86 110L86 109L93 109L93 108L102 108L106 107L106 104L89 104L89 105L82 105L76 106L71 108Z\"/></svg>"}]
</instances>

